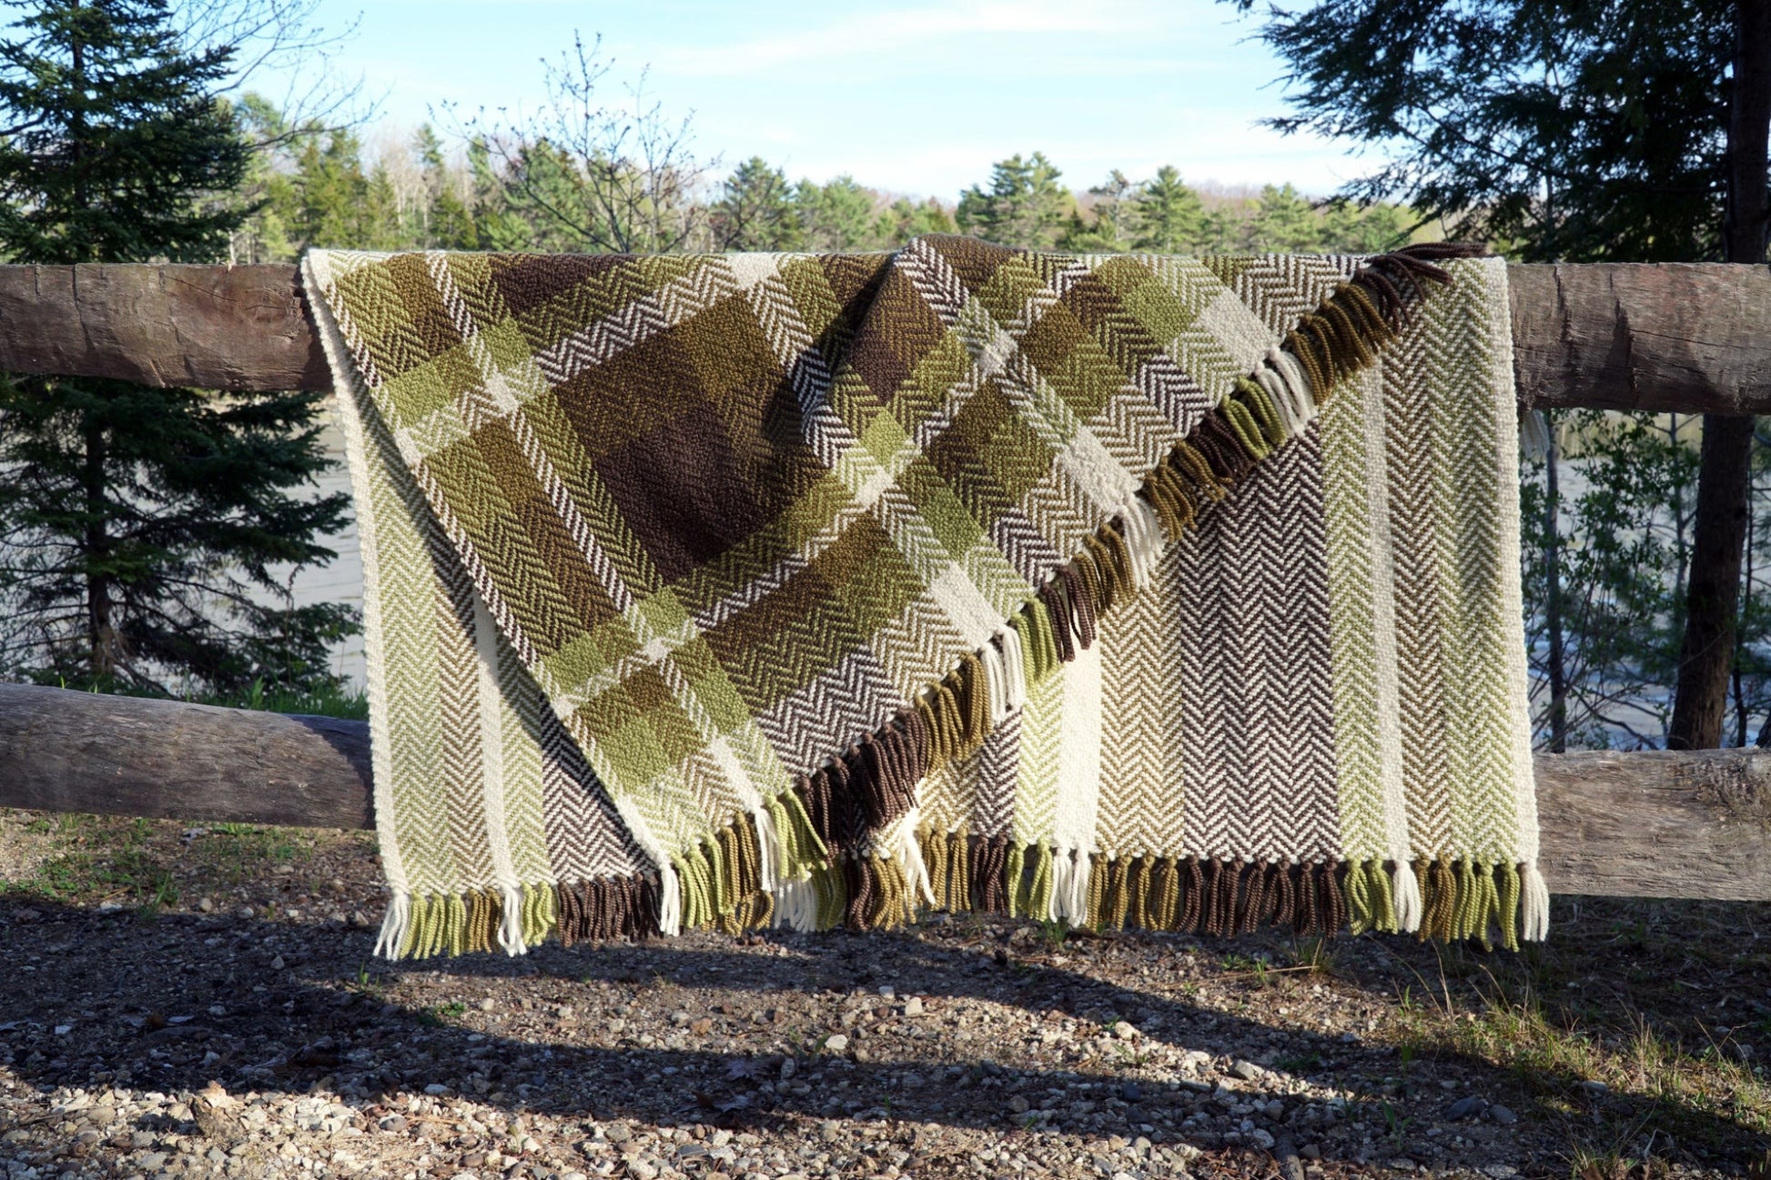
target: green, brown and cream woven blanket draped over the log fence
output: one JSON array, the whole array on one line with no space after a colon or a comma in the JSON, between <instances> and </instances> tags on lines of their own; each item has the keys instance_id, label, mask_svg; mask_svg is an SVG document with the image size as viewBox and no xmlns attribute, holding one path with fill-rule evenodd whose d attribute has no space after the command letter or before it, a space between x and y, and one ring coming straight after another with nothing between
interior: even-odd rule
<instances>
[{"instance_id":1,"label":"green, brown and cream woven blanket draped over the log fence","mask_svg":"<svg viewBox=\"0 0 1771 1180\"><path fill-rule=\"evenodd\" d=\"M312 252L377 950L1543 937L1505 268Z\"/></svg>"}]
</instances>

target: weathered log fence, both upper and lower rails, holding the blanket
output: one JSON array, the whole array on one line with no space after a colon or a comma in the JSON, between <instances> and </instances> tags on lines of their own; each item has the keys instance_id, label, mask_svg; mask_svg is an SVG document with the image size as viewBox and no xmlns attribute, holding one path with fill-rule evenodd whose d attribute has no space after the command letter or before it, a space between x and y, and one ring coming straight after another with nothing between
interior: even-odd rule
<instances>
[{"instance_id":1,"label":"weathered log fence, both upper and lower rails, holding the blanket","mask_svg":"<svg viewBox=\"0 0 1771 1180\"><path fill-rule=\"evenodd\" d=\"M1527 406L1771 413L1771 269L1512 266ZM324 390L290 266L0 266L0 370ZM368 726L0 686L0 806L372 824ZM1537 758L1557 893L1771 900L1771 751Z\"/></svg>"}]
</instances>

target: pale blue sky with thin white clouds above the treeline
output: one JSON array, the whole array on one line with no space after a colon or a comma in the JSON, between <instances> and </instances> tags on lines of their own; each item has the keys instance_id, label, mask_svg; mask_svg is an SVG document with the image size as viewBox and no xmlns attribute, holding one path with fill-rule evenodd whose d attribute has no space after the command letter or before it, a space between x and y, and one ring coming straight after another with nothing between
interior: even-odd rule
<instances>
[{"instance_id":1,"label":"pale blue sky with thin white clouds above the treeline","mask_svg":"<svg viewBox=\"0 0 1771 1180\"><path fill-rule=\"evenodd\" d=\"M650 66L666 110L692 110L698 154L762 154L793 179L953 200L1040 149L1073 188L1172 163L1194 182L1326 193L1371 165L1259 128L1284 112L1280 64L1252 19L1206 0L322 0L319 18L358 12L340 67L395 129L445 101L533 110L540 58L581 30L602 34L611 83Z\"/></svg>"}]
</instances>

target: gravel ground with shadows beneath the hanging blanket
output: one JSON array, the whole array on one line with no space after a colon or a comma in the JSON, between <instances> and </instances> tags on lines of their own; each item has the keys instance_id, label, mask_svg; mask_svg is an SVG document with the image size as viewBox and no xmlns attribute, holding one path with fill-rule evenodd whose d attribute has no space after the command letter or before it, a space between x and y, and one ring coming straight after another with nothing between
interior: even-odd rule
<instances>
[{"instance_id":1,"label":"gravel ground with shadows beneath the hanging blanket","mask_svg":"<svg viewBox=\"0 0 1771 1180\"><path fill-rule=\"evenodd\" d=\"M19 843L28 817L0 819ZM1711 1036L1714 1065L1677 1051L1705 1083L1681 1090L1612 1068L1628 1038L1553 1051L1541 1021L1505 1026L1530 1056L1505 1028L1479 1049L1465 1026L1523 1019L1482 990L1504 953L958 918L388 964L365 836L228 861L207 829L131 831L138 870L172 866L158 905L92 842L0 891L7 1180L1771 1176L1743 1040L1771 1052L1766 907L1736 907L1760 1024ZM1624 955L1582 941L1617 925L1589 911L1558 902L1557 937Z\"/></svg>"}]
</instances>

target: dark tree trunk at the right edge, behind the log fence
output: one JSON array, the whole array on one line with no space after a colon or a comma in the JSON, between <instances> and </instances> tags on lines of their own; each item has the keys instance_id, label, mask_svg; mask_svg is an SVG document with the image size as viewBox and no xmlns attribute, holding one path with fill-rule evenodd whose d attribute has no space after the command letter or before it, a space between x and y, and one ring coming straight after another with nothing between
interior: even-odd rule
<instances>
[{"instance_id":1,"label":"dark tree trunk at the right edge, behind the log fence","mask_svg":"<svg viewBox=\"0 0 1771 1180\"><path fill-rule=\"evenodd\" d=\"M1771 140L1771 0L1739 0L1736 12L1728 206L1721 236L1728 262L1762 266L1766 152ZM1674 749L1721 744L1741 595L1752 443L1752 418L1704 415L1684 647L1679 652L1679 686L1667 735L1667 744Z\"/></svg>"}]
</instances>

